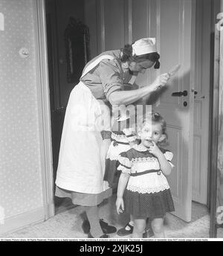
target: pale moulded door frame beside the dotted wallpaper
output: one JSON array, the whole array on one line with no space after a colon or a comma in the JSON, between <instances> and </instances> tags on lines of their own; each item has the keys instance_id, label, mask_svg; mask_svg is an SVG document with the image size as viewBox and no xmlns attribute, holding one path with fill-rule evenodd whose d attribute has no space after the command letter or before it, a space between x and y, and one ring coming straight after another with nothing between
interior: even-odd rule
<instances>
[{"instance_id":1,"label":"pale moulded door frame beside the dotted wallpaper","mask_svg":"<svg viewBox=\"0 0 223 256\"><path fill-rule=\"evenodd\" d=\"M33 16L36 26L36 79L38 83L37 100L39 106L42 199L45 209L45 220L48 220L54 216L55 210L45 0L33 0Z\"/></svg>"}]
</instances>

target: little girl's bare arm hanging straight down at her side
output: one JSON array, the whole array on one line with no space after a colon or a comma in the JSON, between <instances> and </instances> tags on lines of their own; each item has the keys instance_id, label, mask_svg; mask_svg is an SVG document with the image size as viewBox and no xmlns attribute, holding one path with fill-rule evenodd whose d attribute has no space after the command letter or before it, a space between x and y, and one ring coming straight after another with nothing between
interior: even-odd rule
<instances>
[{"instance_id":1,"label":"little girl's bare arm hanging straight down at her side","mask_svg":"<svg viewBox=\"0 0 223 256\"><path fill-rule=\"evenodd\" d=\"M123 193L129 180L129 173L121 173L117 185L116 209L117 214L124 211ZM121 209L120 209L121 208Z\"/></svg>"}]
</instances>

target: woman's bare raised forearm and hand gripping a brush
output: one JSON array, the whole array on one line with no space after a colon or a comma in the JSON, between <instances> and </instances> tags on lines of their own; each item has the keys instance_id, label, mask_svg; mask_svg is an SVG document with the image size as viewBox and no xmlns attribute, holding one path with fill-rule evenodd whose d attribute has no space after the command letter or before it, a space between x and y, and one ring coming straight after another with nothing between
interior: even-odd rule
<instances>
[{"instance_id":1,"label":"woman's bare raised forearm and hand gripping a brush","mask_svg":"<svg viewBox=\"0 0 223 256\"><path fill-rule=\"evenodd\" d=\"M167 73L161 74L157 79L149 86L144 86L143 88L132 90L132 91L115 91L109 95L109 102L111 105L129 105L141 97L151 95L159 86L164 86L169 80L169 75Z\"/></svg>"}]
</instances>

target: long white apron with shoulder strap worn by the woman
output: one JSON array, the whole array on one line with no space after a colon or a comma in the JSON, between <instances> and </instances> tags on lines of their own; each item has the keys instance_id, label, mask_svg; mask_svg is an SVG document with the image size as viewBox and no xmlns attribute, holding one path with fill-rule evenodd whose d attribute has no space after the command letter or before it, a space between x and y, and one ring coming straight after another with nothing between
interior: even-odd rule
<instances>
[{"instance_id":1,"label":"long white apron with shoulder strap worn by the woman","mask_svg":"<svg viewBox=\"0 0 223 256\"><path fill-rule=\"evenodd\" d=\"M103 55L85 68L82 77L103 59L114 57ZM71 91L59 150L56 185L79 193L101 193L108 182L103 181L104 164L100 161L100 134L102 110L100 102L91 94L83 82Z\"/></svg>"}]
</instances>

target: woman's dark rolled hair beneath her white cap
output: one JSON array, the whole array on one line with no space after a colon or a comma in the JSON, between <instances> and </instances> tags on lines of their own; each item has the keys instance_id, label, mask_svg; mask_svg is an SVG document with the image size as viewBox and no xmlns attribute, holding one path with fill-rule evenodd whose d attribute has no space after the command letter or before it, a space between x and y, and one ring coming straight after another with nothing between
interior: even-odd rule
<instances>
[{"instance_id":1,"label":"woman's dark rolled hair beneath her white cap","mask_svg":"<svg viewBox=\"0 0 223 256\"><path fill-rule=\"evenodd\" d=\"M160 68L160 62L159 62L159 58L160 58L160 54L158 54L157 52L152 52L149 54L143 54L143 55L135 55L132 56L132 45L125 45L124 48L121 49L122 51L122 56L120 58L120 61L125 63L126 61L135 61L136 63L140 63L144 60L150 60L153 63L155 63L154 68L158 69Z\"/></svg>"}]
</instances>

